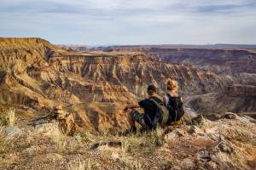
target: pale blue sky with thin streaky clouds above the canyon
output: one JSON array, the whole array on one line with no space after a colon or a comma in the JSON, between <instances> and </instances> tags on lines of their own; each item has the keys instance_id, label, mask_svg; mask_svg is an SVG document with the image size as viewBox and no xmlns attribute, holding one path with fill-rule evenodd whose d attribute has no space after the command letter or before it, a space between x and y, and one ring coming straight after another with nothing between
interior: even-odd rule
<instances>
[{"instance_id":1,"label":"pale blue sky with thin streaky clouds above the canyon","mask_svg":"<svg viewBox=\"0 0 256 170\"><path fill-rule=\"evenodd\" d=\"M55 44L256 44L256 0L0 0L0 21Z\"/></svg>"}]
</instances>

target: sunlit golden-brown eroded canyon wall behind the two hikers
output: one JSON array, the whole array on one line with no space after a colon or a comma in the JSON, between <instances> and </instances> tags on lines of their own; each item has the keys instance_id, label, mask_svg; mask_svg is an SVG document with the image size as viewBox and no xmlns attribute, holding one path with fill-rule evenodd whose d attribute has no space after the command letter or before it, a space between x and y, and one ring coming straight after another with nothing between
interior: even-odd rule
<instances>
[{"instance_id":1,"label":"sunlit golden-brown eroded canyon wall behind the two hikers","mask_svg":"<svg viewBox=\"0 0 256 170\"><path fill-rule=\"evenodd\" d=\"M166 78L181 94L206 94L223 88L212 71L160 62L142 53L67 51L38 38L0 38L0 102L20 116L49 114L55 105L73 112L85 130L125 128L125 103L146 96L154 83L163 93Z\"/></svg>"}]
</instances>

